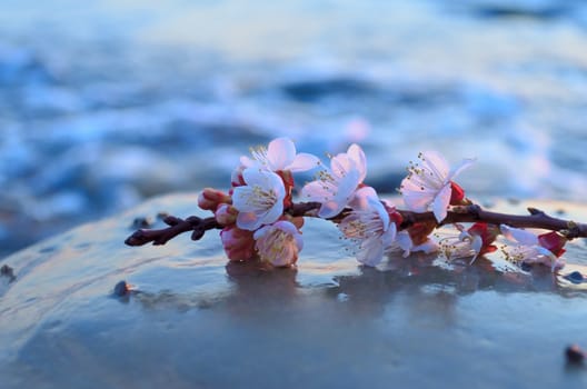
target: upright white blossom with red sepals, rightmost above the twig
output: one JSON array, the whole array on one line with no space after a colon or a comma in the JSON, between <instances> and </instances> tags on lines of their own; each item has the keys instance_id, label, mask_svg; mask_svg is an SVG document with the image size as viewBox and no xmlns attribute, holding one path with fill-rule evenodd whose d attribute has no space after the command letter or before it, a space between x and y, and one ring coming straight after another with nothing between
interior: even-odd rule
<instances>
[{"instance_id":1,"label":"upright white blossom with red sepals, rightmost above the twig","mask_svg":"<svg viewBox=\"0 0 587 389\"><path fill-rule=\"evenodd\" d=\"M400 191L406 206L416 212L432 210L436 220L445 220L449 206L457 206L465 199L465 191L454 179L475 161L462 160L449 169L446 159L436 151L418 154L420 163L408 168L408 177L401 181Z\"/></svg>"}]
</instances>

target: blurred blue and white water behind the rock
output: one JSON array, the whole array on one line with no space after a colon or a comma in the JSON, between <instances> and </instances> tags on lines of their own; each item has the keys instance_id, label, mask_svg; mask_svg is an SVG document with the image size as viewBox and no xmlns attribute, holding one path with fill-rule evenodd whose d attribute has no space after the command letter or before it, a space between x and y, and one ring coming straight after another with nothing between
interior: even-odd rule
<instances>
[{"instance_id":1,"label":"blurred blue and white water behind the rock","mask_svg":"<svg viewBox=\"0 0 587 389\"><path fill-rule=\"evenodd\" d=\"M382 192L437 149L478 158L459 180L474 197L587 196L585 1L0 6L0 258L226 188L277 136L319 156L359 142Z\"/></svg>"}]
</instances>

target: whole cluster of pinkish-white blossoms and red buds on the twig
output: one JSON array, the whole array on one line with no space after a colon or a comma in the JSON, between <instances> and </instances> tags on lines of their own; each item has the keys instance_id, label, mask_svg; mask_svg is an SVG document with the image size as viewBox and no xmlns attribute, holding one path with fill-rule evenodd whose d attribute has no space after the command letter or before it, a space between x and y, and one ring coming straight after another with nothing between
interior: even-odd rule
<instances>
[{"instance_id":1,"label":"whole cluster of pinkish-white blossoms and red buds on the twig","mask_svg":"<svg viewBox=\"0 0 587 389\"><path fill-rule=\"evenodd\" d=\"M567 237L559 232L534 235L505 223L457 222L455 216L472 202L455 180L474 159L450 168L438 152L421 152L399 188L407 210L380 199L365 183L367 158L358 144L329 159L322 163L316 156L298 153L291 140L278 138L240 158L228 192L205 189L198 205L215 213L228 258L258 257L276 267L292 266L304 248L304 217L315 217L335 222L356 243L357 260L366 266L377 266L390 251L404 257L439 252L450 260L469 258L472 265L497 250L500 235L509 241L501 251L511 262L543 263L553 271L564 265L560 257ZM316 179L301 188L304 202L295 203L295 174L308 171ZM307 207L299 211L300 205ZM435 233L439 228L452 232L440 239Z\"/></svg>"}]
</instances>

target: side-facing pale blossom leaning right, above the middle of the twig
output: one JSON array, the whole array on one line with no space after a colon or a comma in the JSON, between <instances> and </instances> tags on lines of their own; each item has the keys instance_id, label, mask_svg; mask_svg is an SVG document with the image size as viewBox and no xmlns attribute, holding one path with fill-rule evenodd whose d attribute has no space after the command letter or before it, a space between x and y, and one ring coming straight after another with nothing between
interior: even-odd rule
<instances>
[{"instance_id":1,"label":"side-facing pale blossom leaning right, above the middle of the twig","mask_svg":"<svg viewBox=\"0 0 587 389\"><path fill-rule=\"evenodd\" d=\"M330 168L321 170L317 180L301 189L301 197L321 203L318 211L320 218L332 218L354 199L366 176L365 153L359 146L351 144L346 153L330 159Z\"/></svg>"}]
</instances>

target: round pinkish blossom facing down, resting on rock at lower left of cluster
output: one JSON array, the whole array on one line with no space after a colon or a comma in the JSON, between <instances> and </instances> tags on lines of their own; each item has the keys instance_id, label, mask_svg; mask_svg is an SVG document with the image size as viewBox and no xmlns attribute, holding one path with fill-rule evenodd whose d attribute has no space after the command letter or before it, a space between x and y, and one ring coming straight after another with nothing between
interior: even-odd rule
<instances>
[{"instance_id":1,"label":"round pinkish blossom facing down, resting on rock at lower left of cluster","mask_svg":"<svg viewBox=\"0 0 587 389\"><path fill-rule=\"evenodd\" d=\"M290 266L304 248L301 233L292 222L280 220L255 231L255 247L259 257L273 266Z\"/></svg>"}]
</instances>

